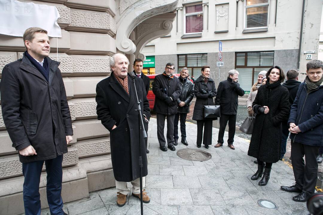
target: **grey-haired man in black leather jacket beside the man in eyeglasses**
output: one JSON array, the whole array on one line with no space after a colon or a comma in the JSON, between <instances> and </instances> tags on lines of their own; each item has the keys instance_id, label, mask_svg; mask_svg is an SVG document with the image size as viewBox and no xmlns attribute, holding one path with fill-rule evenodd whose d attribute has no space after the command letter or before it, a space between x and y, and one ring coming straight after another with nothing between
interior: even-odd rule
<instances>
[{"instance_id":1,"label":"grey-haired man in black leather jacket beside the man in eyeglasses","mask_svg":"<svg viewBox=\"0 0 323 215\"><path fill-rule=\"evenodd\" d=\"M178 107L177 113L174 119L174 145L177 146L178 141L178 120L181 119L181 142L184 145L188 145L186 141L186 128L185 122L187 113L190 112L190 103L194 97L194 84L188 79L188 69L182 68L181 75L179 77L181 94L177 99Z\"/></svg>"}]
</instances>

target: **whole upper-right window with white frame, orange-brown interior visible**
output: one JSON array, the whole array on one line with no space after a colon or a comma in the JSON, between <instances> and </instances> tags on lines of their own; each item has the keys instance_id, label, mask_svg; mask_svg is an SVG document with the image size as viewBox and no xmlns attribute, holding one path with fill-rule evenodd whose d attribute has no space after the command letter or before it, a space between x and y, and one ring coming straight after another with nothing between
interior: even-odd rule
<instances>
[{"instance_id":1,"label":"whole upper-right window with white frame, orange-brown interior visible","mask_svg":"<svg viewBox=\"0 0 323 215\"><path fill-rule=\"evenodd\" d=\"M245 1L245 28L268 26L269 0Z\"/></svg>"}]
</instances>

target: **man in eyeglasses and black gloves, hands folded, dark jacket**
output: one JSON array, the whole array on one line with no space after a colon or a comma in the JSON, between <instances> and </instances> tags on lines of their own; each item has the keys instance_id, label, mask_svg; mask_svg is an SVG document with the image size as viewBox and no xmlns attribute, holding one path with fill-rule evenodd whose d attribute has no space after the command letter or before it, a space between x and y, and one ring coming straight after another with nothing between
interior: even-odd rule
<instances>
[{"instance_id":1,"label":"man in eyeglasses and black gloves, hands folded, dark jacket","mask_svg":"<svg viewBox=\"0 0 323 215\"><path fill-rule=\"evenodd\" d=\"M152 92L155 94L154 111L157 113L157 137L161 151L167 151L164 137L165 118L167 118L167 145L172 151L174 147L174 118L177 113L177 99L181 93L180 82L173 76L175 66L167 63L165 71L156 75L152 83Z\"/></svg>"}]
</instances>

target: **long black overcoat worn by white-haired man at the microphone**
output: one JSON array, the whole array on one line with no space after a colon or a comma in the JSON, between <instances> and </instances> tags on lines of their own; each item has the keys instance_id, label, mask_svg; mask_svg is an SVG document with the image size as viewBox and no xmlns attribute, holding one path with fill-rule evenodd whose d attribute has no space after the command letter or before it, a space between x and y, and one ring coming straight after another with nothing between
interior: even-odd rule
<instances>
[{"instance_id":1,"label":"long black overcoat worn by white-haired man at the microphone","mask_svg":"<svg viewBox=\"0 0 323 215\"><path fill-rule=\"evenodd\" d=\"M128 75L130 95L123 89L114 74L97 84L98 120L110 132L111 161L117 181L133 181L140 177L139 143L141 143L142 176L147 175L146 146L141 130L138 128L139 116L134 83ZM141 78L135 77L141 114L149 120L150 109L145 85ZM144 115L143 115L144 114ZM144 123L147 123L144 121ZM113 130L112 127L117 127ZM147 124L146 124L147 125ZM140 141L139 141L140 136Z\"/></svg>"}]
</instances>

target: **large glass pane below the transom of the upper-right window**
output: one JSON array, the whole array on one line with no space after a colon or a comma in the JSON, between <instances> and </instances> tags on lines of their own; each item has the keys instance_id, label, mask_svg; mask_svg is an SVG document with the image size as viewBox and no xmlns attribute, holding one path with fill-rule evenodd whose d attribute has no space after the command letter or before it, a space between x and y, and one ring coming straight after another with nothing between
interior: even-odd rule
<instances>
[{"instance_id":1,"label":"large glass pane below the transom of the upper-right window","mask_svg":"<svg viewBox=\"0 0 323 215\"><path fill-rule=\"evenodd\" d=\"M267 26L268 5L261 7L246 8L246 27L265 27Z\"/></svg>"}]
</instances>

